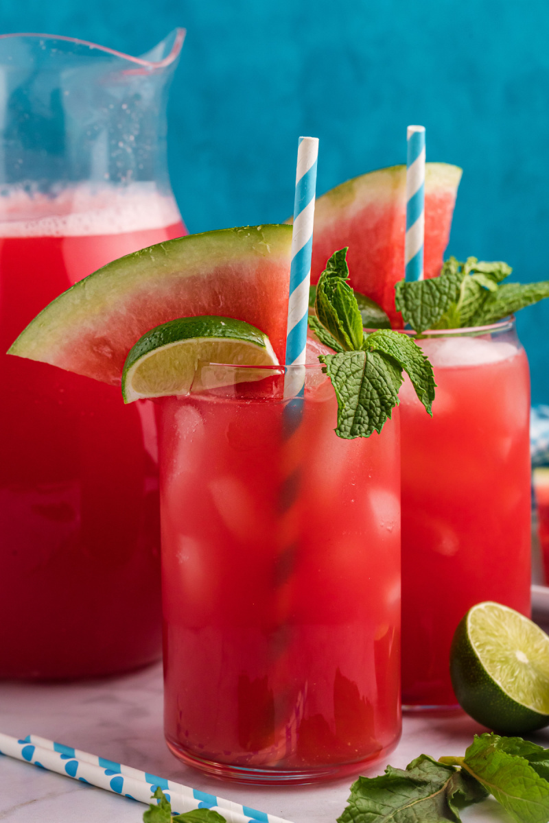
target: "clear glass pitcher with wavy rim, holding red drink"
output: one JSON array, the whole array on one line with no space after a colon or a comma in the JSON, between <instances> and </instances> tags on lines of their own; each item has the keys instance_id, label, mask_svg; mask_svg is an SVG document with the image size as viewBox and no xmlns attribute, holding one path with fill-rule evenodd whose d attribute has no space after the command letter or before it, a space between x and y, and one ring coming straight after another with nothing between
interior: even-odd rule
<instances>
[{"instance_id":1,"label":"clear glass pitcher with wavy rim, holding red drink","mask_svg":"<svg viewBox=\"0 0 549 823\"><path fill-rule=\"evenodd\" d=\"M102 675L161 654L150 402L125 407L115 386L3 352L74 282L186 233L165 156L183 40L174 30L133 58L0 37L0 677Z\"/></svg>"}]
</instances>

